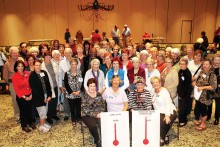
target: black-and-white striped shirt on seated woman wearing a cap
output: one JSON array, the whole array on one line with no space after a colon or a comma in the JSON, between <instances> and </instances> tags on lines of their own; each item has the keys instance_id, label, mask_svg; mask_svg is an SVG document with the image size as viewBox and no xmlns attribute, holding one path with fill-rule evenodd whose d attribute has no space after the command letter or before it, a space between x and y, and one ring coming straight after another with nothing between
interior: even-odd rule
<instances>
[{"instance_id":1,"label":"black-and-white striped shirt on seated woman wearing a cap","mask_svg":"<svg viewBox=\"0 0 220 147\"><path fill-rule=\"evenodd\" d=\"M128 105L133 110L151 110L152 97L148 90L144 92L131 91L128 95Z\"/></svg>"}]
</instances>

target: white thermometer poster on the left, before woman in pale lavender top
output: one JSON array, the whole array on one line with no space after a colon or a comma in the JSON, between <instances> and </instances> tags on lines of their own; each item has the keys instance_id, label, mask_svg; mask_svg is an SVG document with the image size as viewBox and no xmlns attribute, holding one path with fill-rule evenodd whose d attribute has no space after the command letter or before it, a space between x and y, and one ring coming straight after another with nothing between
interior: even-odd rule
<instances>
[{"instance_id":1,"label":"white thermometer poster on the left, before woman in pale lavender top","mask_svg":"<svg viewBox=\"0 0 220 147\"><path fill-rule=\"evenodd\" d=\"M130 147L129 116L127 111L101 113L103 147Z\"/></svg>"}]
</instances>

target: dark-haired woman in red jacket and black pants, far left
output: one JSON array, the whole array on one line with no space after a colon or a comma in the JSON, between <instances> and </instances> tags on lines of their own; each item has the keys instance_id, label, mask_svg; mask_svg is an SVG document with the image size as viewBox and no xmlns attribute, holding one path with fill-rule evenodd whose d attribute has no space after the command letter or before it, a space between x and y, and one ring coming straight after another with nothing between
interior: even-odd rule
<instances>
[{"instance_id":1,"label":"dark-haired woman in red jacket and black pants, far left","mask_svg":"<svg viewBox=\"0 0 220 147\"><path fill-rule=\"evenodd\" d=\"M22 130L25 132L31 132L28 128L36 129L34 122L32 121L32 95L29 85L30 73L24 70L24 62L16 61L14 65L15 74L12 77L12 84L16 93L16 101L20 109L20 120Z\"/></svg>"}]
</instances>

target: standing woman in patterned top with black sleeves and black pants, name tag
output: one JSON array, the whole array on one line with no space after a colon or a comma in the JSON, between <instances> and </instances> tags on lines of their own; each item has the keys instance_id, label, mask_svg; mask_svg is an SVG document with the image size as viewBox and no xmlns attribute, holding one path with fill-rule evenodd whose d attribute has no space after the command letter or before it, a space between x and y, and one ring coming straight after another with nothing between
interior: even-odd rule
<instances>
[{"instance_id":1,"label":"standing woman in patterned top with black sleeves and black pants, name tag","mask_svg":"<svg viewBox=\"0 0 220 147\"><path fill-rule=\"evenodd\" d=\"M64 85L67 91L72 125L76 126L77 121L81 121L81 86L83 78L80 70L77 70L78 59L70 60L70 70L65 73Z\"/></svg>"}]
</instances>

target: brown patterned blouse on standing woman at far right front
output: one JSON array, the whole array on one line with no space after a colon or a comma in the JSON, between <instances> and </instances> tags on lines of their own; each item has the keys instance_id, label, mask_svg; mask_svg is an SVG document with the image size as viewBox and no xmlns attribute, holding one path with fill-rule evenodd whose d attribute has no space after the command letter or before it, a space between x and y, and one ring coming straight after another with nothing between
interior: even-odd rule
<instances>
[{"instance_id":1,"label":"brown patterned blouse on standing woman at far right front","mask_svg":"<svg viewBox=\"0 0 220 147\"><path fill-rule=\"evenodd\" d=\"M201 71L196 80L196 86L202 87L202 86L209 86L209 85L212 86L213 90L216 89L217 87L216 75L211 70L209 70L207 73L205 73L204 71ZM211 99L209 100L206 98L206 91L207 90L202 91L199 101L205 105L211 105L212 100Z\"/></svg>"}]
</instances>

